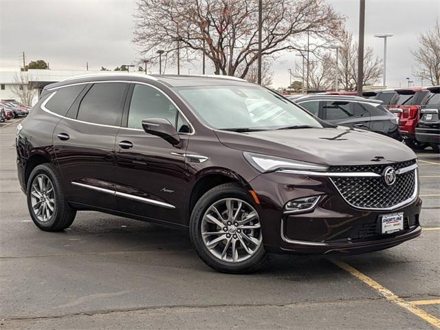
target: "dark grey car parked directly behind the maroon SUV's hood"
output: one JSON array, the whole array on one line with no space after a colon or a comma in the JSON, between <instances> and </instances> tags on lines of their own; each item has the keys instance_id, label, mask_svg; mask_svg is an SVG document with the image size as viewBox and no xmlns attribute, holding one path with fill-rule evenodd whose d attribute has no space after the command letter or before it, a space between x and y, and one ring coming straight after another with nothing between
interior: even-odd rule
<instances>
[{"instance_id":1,"label":"dark grey car parked directly behind the maroon SUV's hood","mask_svg":"<svg viewBox=\"0 0 440 330\"><path fill-rule=\"evenodd\" d=\"M399 118L382 106L382 101L358 96L313 95L294 102L317 117L341 126L365 129L401 141Z\"/></svg>"}]
</instances>

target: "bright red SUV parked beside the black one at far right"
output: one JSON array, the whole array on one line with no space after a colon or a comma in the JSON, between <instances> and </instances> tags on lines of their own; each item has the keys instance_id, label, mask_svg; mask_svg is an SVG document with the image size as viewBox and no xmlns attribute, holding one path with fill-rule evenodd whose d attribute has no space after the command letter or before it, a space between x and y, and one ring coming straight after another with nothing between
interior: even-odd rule
<instances>
[{"instance_id":1,"label":"bright red SUV parked beside the black one at far right","mask_svg":"<svg viewBox=\"0 0 440 330\"><path fill-rule=\"evenodd\" d=\"M423 149L428 146L415 137L415 127L420 118L420 104L428 95L426 88L396 89L397 94L391 100L388 110L399 116L399 131L405 143L413 149Z\"/></svg>"}]
</instances>

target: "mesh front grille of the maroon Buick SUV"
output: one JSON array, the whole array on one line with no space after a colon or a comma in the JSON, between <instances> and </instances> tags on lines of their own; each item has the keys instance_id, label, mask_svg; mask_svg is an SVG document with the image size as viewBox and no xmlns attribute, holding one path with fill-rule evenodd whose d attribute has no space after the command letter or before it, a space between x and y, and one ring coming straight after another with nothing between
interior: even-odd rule
<instances>
[{"instance_id":1,"label":"mesh front grille of the maroon Buick SUV","mask_svg":"<svg viewBox=\"0 0 440 330\"><path fill-rule=\"evenodd\" d=\"M395 167L395 169L397 168L399 167ZM373 172L373 170L369 170L369 172ZM376 170L374 173L379 174ZM405 201L411 201L415 197L417 189L416 180L415 169L398 174L395 183L391 186L385 184L382 176L331 177L331 181L347 203L355 208L364 209L389 209L399 206Z\"/></svg>"}]
</instances>

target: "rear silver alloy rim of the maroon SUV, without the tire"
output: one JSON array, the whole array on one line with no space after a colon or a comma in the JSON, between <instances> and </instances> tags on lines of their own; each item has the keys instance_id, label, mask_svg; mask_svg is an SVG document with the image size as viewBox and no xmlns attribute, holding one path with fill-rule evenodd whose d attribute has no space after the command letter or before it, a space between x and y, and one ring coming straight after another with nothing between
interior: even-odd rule
<instances>
[{"instance_id":1,"label":"rear silver alloy rim of the maroon SUV, without the tire","mask_svg":"<svg viewBox=\"0 0 440 330\"><path fill-rule=\"evenodd\" d=\"M34 177L30 190L31 205L39 221L47 222L54 215L55 191L52 181L44 174Z\"/></svg>"}]
</instances>

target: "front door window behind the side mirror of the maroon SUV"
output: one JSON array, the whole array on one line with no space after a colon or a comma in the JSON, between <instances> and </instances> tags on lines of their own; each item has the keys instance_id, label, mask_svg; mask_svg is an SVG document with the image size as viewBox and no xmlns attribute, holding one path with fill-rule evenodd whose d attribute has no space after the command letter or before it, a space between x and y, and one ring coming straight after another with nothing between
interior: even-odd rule
<instances>
[{"instance_id":1,"label":"front door window behind the side mirror of the maroon SUV","mask_svg":"<svg viewBox=\"0 0 440 330\"><path fill-rule=\"evenodd\" d=\"M173 126L176 127L177 124L177 130L179 130L178 112L174 104L162 92L150 86L136 84L131 96L127 126L131 129L142 129L144 119L165 118ZM184 118L181 118L180 126L184 124L188 125Z\"/></svg>"}]
</instances>

